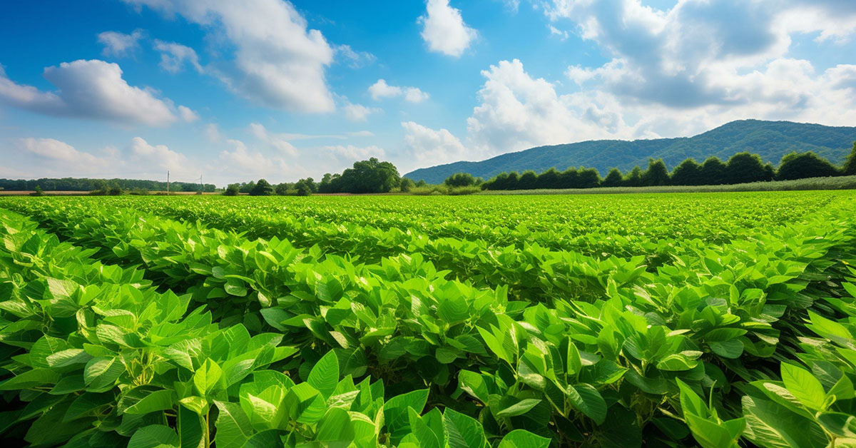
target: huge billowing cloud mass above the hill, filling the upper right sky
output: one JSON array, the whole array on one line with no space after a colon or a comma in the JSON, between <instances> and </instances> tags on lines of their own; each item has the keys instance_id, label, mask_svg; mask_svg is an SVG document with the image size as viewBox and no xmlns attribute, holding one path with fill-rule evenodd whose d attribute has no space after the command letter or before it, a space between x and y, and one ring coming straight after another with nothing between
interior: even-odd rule
<instances>
[{"instance_id":1,"label":"huge billowing cloud mass above the hill, filling the upper right sky","mask_svg":"<svg viewBox=\"0 0 856 448\"><path fill-rule=\"evenodd\" d=\"M611 60L568 67L574 87L530 75L519 60L491 65L467 119L468 154L692 135L742 118L852 125L856 116L856 65L816 69L789 53L794 33L843 45L856 32L851 3L684 0L663 11L554 0L544 11L550 29L572 21Z\"/></svg>"}]
</instances>

